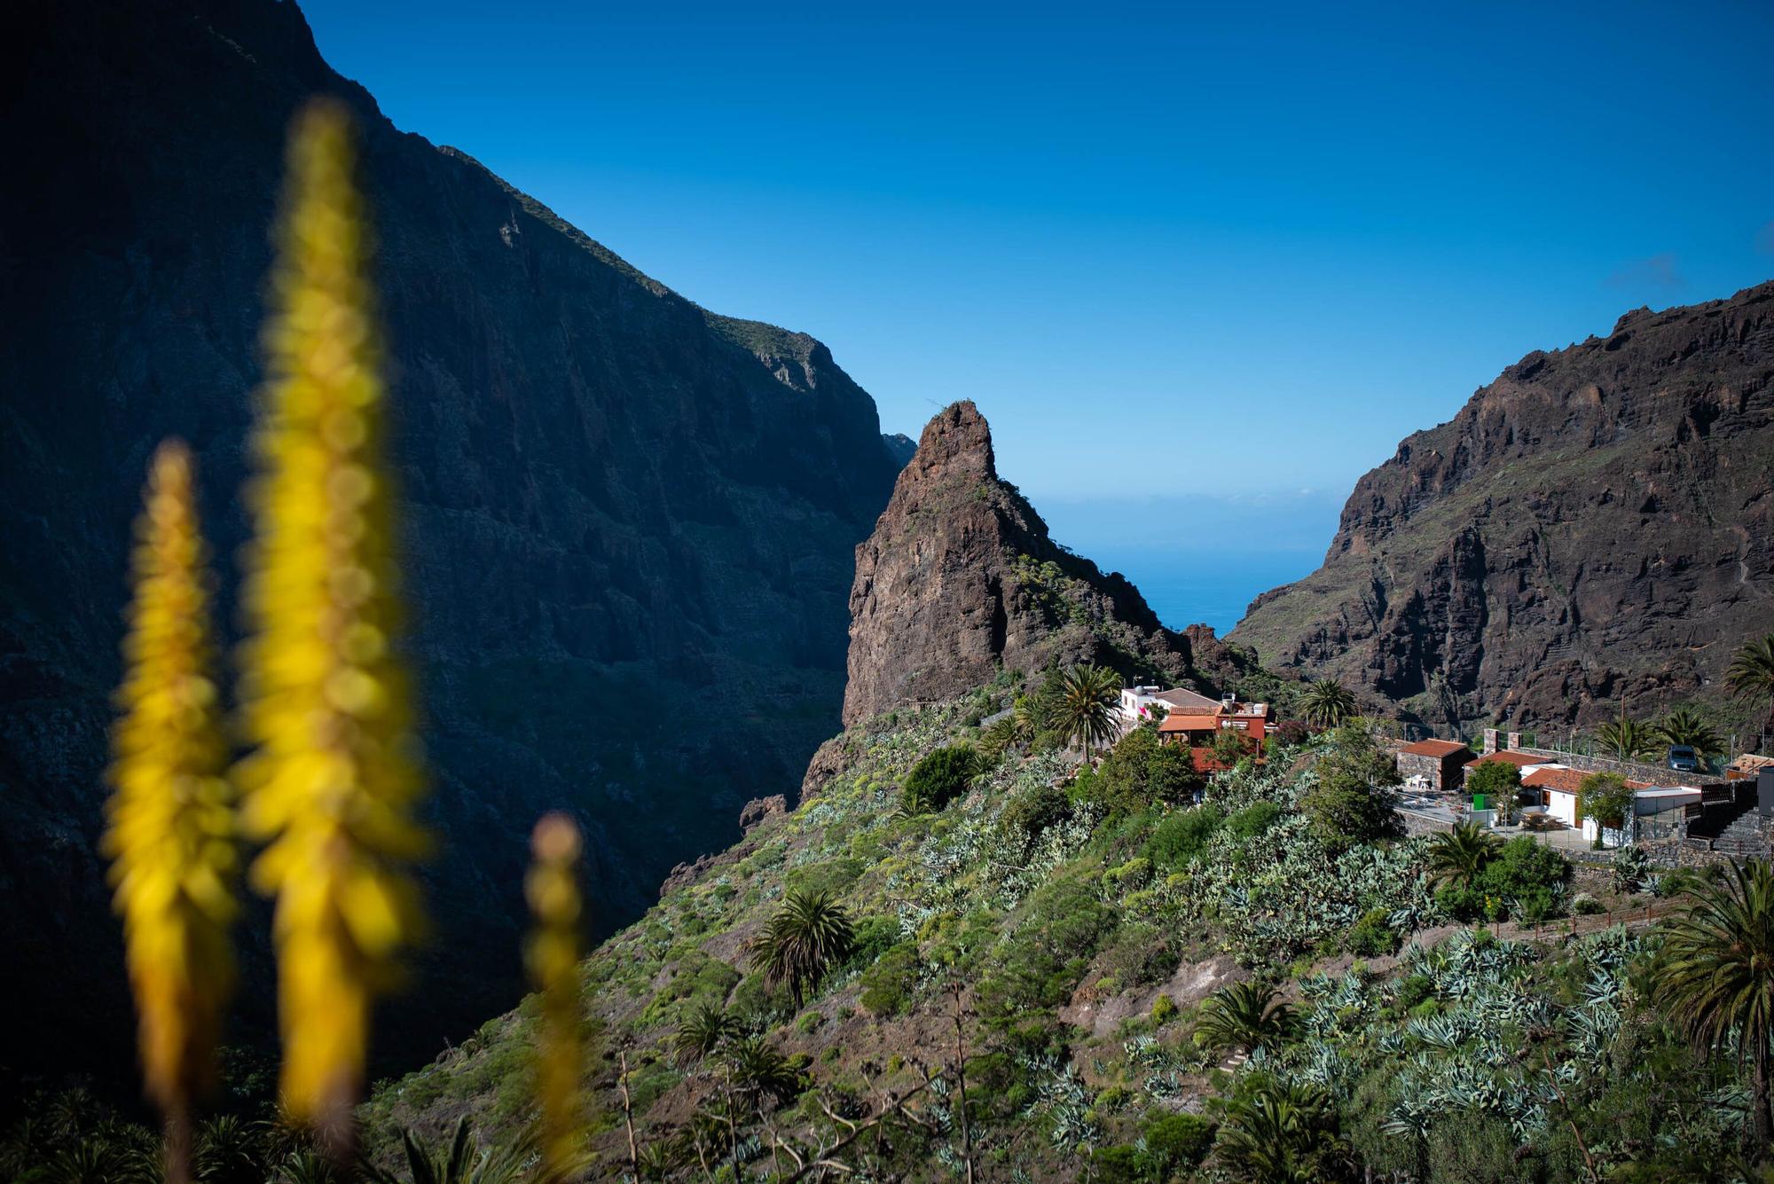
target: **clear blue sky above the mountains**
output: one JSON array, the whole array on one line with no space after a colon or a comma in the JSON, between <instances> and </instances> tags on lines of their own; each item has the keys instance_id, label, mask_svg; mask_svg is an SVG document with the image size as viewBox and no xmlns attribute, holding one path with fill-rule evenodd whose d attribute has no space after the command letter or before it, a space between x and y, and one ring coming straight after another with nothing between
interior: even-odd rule
<instances>
[{"instance_id":1,"label":"clear blue sky above the mountains","mask_svg":"<svg viewBox=\"0 0 1774 1184\"><path fill-rule=\"evenodd\" d=\"M303 5L397 126L820 337L885 429L977 401L1086 553L1322 555L1520 354L1774 277L1774 5L962 7ZM1112 541L1178 496L1290 525Z\"/></svg>"}]
</instances>

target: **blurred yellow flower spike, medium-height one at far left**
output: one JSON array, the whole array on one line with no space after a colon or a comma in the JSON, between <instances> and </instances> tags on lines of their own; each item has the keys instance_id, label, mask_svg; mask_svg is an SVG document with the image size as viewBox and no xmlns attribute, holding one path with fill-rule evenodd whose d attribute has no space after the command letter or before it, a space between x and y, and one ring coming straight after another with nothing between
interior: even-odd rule
<instances>
[{"instance_id":1,"label":"blurred yellow flower spike, medium-height one at far left","mask_svg":"<svg viewBox=\"0 0 1774 1184\"><path fill-rule=\"evenodd\" d=\"M192 1099L213 1083L234 984L234 808L209 635L209 578L192 456L169 440L137 523L115 789L103 849L124 918L142 1076L167 1117L167 1175L186 1177Z\"/></svg>"}]
</instances>

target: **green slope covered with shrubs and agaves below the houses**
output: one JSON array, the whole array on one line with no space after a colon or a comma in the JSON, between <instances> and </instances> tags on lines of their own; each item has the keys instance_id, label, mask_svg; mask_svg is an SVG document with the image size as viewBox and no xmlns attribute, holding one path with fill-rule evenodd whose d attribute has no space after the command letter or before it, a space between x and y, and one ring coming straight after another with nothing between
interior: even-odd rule
<instances>
[{"instance_id":1,"label":"green slope covered with shrubs and agaves below the houses","mask_svg":"<svg viewBox=\"0 0 1774 1184\"><path fill-rule=\"evenodd\" d=\"M1096 771L1011 741L946 805L903 810L910 771L1006 698L853 728L816 799L584 964L603 1175L628 1163L624 1087L642 1173L671 1179L734 1159L788 1179L793 1154L876 1120L891 1138L843 1156L878 1179L1692 1179L1742 1138L1735 1063L1644 1001L1652 932L1547 946L1453 923L1590 911L1613 886L1574 895L1527 842L1435 892L1432 842L1309 810L1352 771L1385 792L1362 721L1215 776L1199 805L1130 775L1153 760L1135 732ZM797 1007L750 950L812 895L853 932ZM392 1161L406 1127L525 1129L532 1028L527 1005L383 1083L367 1143Z\"/></svg>"}]
</instances>

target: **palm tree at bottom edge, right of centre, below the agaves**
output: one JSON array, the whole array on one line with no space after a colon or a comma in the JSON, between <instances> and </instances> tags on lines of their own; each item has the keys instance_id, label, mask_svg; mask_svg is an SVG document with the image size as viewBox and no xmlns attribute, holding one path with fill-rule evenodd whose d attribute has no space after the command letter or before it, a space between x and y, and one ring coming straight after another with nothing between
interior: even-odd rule
<instances>
[{"instance_id":1,"label":"palm tree at bottom edge, right of centre, below the agaves","mask_svg":"<svg viewBox=\"0 0 1774 1184\"><path fill-rule=\"evenodd\" d=\"M1343 1175L1348 1145L1329 1095L1315 1085L1267 1083L1224 1102L1213 1154L1235 1180L1316 1184Z\"/></svg>"}]
</instances>

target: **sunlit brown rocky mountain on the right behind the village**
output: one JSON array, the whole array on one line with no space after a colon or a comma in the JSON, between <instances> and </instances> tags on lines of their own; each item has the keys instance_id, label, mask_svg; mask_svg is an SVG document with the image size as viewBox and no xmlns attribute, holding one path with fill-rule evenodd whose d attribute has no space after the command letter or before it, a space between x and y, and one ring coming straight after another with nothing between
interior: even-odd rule
<instances>
[{"instance_id":1,"label":"sunlit brown rocky mountain on the right behind the village","mask_svg":"<svg viewBox=\"0 0 1774 1184\"><path fill-rule=\"evenodd\" d=\"M1769 629L1774 284L1527 354L1362 477L1323 567L1231 640L1458 728L1717 693Z\"/></svg>"}]
</instances>

